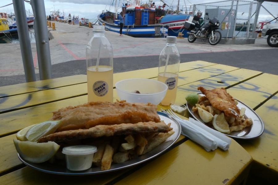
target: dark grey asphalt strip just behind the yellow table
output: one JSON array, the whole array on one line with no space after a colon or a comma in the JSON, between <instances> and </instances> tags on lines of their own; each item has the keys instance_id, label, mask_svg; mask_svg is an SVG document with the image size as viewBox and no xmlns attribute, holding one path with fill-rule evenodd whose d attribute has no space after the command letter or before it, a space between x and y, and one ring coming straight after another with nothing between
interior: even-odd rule
<instances>
[{"instance_id":1,"label":"dark grey asphalt strip just behind the yellow table","mask_svg":"<svg viewBox=\"0 0 278 185\"><path fill-rule=\"evenodd\" d=\"M158 67L158 58L159 55L114 58L114 73ZM181 55L181 63L194 60L204 60L278 75L278 50L276 48ZM78 74L86 74L86 60L72 60L52 65L53 78ZM36 74L36 78L40 80L39 74ZM0 77L0 86L25 82L24 75Z\"/></svg>"}]
</instances>

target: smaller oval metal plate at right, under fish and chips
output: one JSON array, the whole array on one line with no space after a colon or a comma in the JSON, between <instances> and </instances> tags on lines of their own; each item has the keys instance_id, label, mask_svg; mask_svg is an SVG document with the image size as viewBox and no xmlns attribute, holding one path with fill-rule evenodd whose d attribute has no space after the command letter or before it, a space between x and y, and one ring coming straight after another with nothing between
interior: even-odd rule
<instances>
[{"instance_id":1,"label":"smaller oval metal plate at right, under fish and chips","mask_svg":"<svg viewBox=\"0 0 278 185\"><path fill-rule=\"evenodd\" d=\"M201 92L197 93L201 96L204 96ZM235 98L234 98L235 99ZM249 127L244 128L240 131L233 131L230 134L225 134L227 136L230 136L231 138L237 138L237 139L254 139L259 137L263 134L264 131L264 125L262 119L259 117L259 115L250 107L242 103L242 101L239 101L238 99L235 99L238 101L238 108L241 109L246 108L244 118L251 118L253 121L253 124ZM197 113L192 112L192 105L186 103L188 112L194 117L196 120L199 120L200 122L204 123L199 115ZM205 124L205 123L204 123ZM205 124L206 125L206 124ZM224 134L224 133L223 133Z\"/></svg>"}]
</instances>

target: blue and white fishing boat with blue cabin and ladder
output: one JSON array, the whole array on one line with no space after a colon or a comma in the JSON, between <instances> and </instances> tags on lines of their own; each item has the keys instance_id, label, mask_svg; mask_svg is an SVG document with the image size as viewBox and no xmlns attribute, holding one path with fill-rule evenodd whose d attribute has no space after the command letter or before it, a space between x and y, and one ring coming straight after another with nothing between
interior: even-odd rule
<instances>
[{"instance_id":1,"label":"blue and white fishing boat with blue cabin and ladder","mask_svg":"<svg viewBox=\"0 0 278 185\"><path fill-rule=\"evenodd\" d=\"M139 0L135 0L133 4L127 3L122 6L124 12L123 34L133 37L157 37L166 36L168 28L163 24L159 24L156 20L156 14L159 11L151 8L148 4L140 5ZM118 13L104 12L98 15L99 25L105 24L105 28L109 31L120 33L120 22L117 19Z\"/></svg>"}]
</instances>

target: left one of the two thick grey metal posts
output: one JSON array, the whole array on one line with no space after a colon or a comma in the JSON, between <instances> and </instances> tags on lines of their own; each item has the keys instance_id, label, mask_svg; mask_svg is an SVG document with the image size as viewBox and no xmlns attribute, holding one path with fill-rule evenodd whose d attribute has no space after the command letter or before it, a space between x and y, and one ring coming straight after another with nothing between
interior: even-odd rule
<instances>
[{"instance_id":1,"label":"left one of the two thick grey metal posts","mask_svg":"<svg viewBox=\"0 0 278 185\"><path fill-rule=\"evenodd\" d=\"M31 43L23 0L13 0L19 45L23 61L26 82L36 81ZM44 21L45 24L45 21Z\"/></svg>"}]
</instances>

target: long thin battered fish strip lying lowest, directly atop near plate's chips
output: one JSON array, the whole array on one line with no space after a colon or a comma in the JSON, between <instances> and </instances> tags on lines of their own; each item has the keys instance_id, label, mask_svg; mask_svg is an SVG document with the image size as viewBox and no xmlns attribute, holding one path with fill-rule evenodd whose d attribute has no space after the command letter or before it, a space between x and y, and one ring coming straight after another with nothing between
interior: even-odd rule
<instances>
[{"instance_id":1,"label":"long thin battered fish strip lying lowest, directly atop near plate's chips","mask_svg":"<svg viewBox=\"0 0 278 185\"><path fill-rule=\"evenodd\" d=\"M122 123L119 125L97 125L90 129L67 130L49 134L39 139L38 142L63 142L70 140L78 140L85 138L99 138L103 136L113 135L129 135L129 134L152 134L167 133L173 128L164 122L139 122L139 123Z\"/></svg>"}]
</instances>

